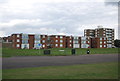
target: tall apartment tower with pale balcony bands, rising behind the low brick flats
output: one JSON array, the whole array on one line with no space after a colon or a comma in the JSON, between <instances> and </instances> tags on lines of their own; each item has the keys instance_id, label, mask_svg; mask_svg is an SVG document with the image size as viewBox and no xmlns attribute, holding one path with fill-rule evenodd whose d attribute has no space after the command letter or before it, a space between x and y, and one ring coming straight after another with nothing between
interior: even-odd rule
<instances>
[{"instance_id":1,"label":"tall apartment tower with pale balcony bands, rising behind the low brick flats","mask_svg":"<svg viewBox=\"0 0 120 81\"><path fill-rule=\"evenodd\" d=\"M106 38L107 48L112 48L114 46L114 29L103 28L102 26L98 26L96 29L85 29L84 36L91 37L93 39L96 38L95 41L98 41L98 38Z\"/></svg>"}]
</instances>

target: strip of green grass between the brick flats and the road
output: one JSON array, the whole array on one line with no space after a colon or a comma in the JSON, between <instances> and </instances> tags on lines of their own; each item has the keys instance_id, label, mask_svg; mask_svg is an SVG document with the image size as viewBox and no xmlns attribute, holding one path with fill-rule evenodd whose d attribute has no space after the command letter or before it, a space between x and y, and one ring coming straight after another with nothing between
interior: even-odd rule
<instances>
[{"instance_id":1,"label":"strip of green grass between the brick flats and the road","mask_svg":"<svg viewBox=\"0 0 120 81\"><path fill-rule=\"evenodd\" d=\"M120 48L119 48L120 49ZM52 48L51 56L57 55L72 55L70 48ZM59 51L65 50L65 51ZM86 54L85 48L76 49L76 55ZM89 48L90 54L118 54L118 48ZM11 56L43 56L44 49L35 50L35 49L11 49L3 48L2 56L11 57Z\"/></svg>"}]
</instances>

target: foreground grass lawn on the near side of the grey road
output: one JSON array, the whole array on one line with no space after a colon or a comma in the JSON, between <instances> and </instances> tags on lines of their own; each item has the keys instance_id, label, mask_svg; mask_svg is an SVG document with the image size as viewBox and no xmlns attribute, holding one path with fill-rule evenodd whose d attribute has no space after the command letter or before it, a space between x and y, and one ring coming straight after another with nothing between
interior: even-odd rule
<instances>
[{"instance_id":1,"label":"foreground grass lawn on the near side of the grey road","mask_svg":"<svg viewBox=\"0 0 120 81\"><path fill-rule=\"evenodd\" d=\"M4 69L3 79L118 79L118 63Z\"/></svg>"}]
</instances>

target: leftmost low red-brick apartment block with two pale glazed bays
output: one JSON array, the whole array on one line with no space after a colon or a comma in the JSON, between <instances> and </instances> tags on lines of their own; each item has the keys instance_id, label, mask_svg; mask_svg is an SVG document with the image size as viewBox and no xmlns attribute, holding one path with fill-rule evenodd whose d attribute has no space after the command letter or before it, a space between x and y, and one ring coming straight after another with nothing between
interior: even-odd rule
<instances>
[{"instance_id":1,"label":"leftmost low red-brick apartment block with two pale glazed bays","mask_svg":"<svg viewBox=\"0 0 120 81\"><path fill-rule=\"evenodd\" d=\"M47 47L47 35L12 34L12 47L17 49L40 49Z\"/></svg>"}]
</instances>

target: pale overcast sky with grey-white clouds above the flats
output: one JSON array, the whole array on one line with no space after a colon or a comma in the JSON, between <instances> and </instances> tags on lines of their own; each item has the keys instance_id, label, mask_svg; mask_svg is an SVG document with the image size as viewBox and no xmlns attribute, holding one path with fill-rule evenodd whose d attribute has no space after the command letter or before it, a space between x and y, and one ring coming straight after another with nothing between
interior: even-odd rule
<instances>
[{"instance_id":1,"label":"pale overcast sky with grey-white clouds above the flats","mask_svg":"<svg viewBox=\"0 0 120 81\"><path fill-rule=\"evenodd\" d=\"M0 0L0 37L13 33L84 36L84 29L99 25L115 29L118 38L117 0Z\"/></svg>"}]
</instances>

